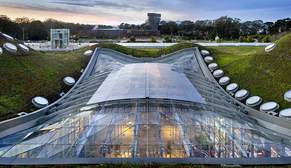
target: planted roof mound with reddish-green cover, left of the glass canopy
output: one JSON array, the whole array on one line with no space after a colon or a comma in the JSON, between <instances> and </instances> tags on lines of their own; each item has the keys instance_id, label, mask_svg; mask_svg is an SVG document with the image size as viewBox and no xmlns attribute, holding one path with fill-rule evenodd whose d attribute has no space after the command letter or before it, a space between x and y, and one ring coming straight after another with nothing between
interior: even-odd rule
<instances>
[{"instance_id":1,"label":"planted roof mound with reddish-green cover, left of the glass canopy","mask_svg":"<svg viewBox=\"0 0 291 168\"><path fill-rule=\"evenodd\" d=\"M17 52L9 52L3 44L11 43ZM30 113L40 108L32 104L36 96L44 97L49 104L60 98L59 94L70 90L63 82L66 76L76 81L85 69L90 56L85 56L90 46L74 52L39 52L30 47L28 52L17 45L17 40L8 40L0 35L0 121L17 117L17 113Z\"/></svg>"}]
</instances>

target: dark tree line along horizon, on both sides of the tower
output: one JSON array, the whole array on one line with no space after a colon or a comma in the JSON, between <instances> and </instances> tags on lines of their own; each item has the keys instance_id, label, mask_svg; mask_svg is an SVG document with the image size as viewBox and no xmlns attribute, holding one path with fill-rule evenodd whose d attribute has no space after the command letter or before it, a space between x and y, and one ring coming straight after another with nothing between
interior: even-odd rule
<instances>
[{"instance_id":1,"label":"dark tree line along horizon, on both sides of the tower","mask_svg":"<svg viewBox=\"0 0 291 168\"><path fill-rule=\"evenodd\" d=\"M23 40L40 40L50 38L50 29L70 29L71 31L90 30L90 29L105 29L105 28L120 28L131 29L138 28L150 30L149 21L144 24L134 25L121 23L117 27L111 25L92 25L67 23L52 18L46 19L43 22L29 19L28 17L16 18L11 20L6 15L0 15L0 31L14 38ZM262 20L241 22L240 19L221 16L215 20L197 20L196 22L185 20L181 24L173 21L161 21L158 27L161 35L179 35L185 39L214 39L216 36L225 40L239 39L248 35L256 35L257 38L265 38L267 42L271 35L276 35L282 32L291 31L291 19L285 18L273 22L263 22Z\"/></svg>"}]
</instances>

